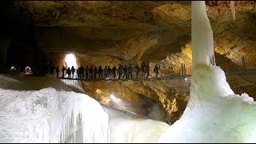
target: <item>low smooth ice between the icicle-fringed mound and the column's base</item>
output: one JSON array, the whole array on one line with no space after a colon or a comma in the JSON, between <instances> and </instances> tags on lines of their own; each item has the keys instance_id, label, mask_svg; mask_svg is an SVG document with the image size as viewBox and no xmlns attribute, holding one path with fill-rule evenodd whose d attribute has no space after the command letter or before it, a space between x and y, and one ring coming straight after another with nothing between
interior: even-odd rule
<instances>
[{"instance_id":1,"label":"low smooth ice between the icicle-fringed mound and the column's base","mask_svg":"<svg viewBox=\"0 0 256 144\"><path fill-rule=\"evenodd\" d=\"M128 114L121 110L106 109L109 115L109 135L110 143L152 143L170 125L165 122L142 118L139 115Z\"/></svg>"}]
</instances>

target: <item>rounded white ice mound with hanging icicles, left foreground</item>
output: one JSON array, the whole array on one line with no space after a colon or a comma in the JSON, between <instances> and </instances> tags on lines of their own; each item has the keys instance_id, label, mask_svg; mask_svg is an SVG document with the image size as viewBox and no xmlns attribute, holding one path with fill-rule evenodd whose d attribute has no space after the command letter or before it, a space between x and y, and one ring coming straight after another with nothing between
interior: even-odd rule
<instances>
[{"instance_id":1,"label":"rounded white ice mound with hanging icicles, left foreground","mask_svg":"<svg viewBox=\"0 0 256 144\"><path fill-rule=\"evenodd\" d=\"M85 94L0 89L0 127L0 142L107 142L108 115Z\"/></svg>"}]
</instances>

